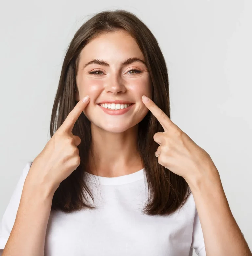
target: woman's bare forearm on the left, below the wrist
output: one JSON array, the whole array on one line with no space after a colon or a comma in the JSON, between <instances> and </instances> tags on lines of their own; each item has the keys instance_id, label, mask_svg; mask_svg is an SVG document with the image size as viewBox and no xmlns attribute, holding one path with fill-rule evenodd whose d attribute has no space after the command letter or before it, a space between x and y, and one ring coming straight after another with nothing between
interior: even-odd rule
<instances>
[{"instance_id":1,"label":"woman's bare forearm on the left, below the wrist","mask_svg":"<svg viewBox=\"0 0 252 256\"><path fill-rule=\"evenodd\" d=\"M43 256L53 194L25 182L16 220L2 256Z\"/></svg>"}]
</instances>

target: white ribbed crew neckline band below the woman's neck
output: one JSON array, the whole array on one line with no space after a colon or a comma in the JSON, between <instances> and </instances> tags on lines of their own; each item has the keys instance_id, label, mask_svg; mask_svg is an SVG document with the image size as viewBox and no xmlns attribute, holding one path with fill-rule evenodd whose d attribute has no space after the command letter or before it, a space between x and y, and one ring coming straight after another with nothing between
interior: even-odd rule
<instances>
[{"instance_id":1,"label":"white ribbed crew neckline band below the woman's neck","mask_svg":"<svg viewBox=\"0 0 252 256\"><path fill-rule=\"evenodd\" d=\"M144 178L144 168L139 171L118 176L118 177L102 177L86 172L87 181L100 185L122 185L135 182Z\"/></svg>"}]
</instances>

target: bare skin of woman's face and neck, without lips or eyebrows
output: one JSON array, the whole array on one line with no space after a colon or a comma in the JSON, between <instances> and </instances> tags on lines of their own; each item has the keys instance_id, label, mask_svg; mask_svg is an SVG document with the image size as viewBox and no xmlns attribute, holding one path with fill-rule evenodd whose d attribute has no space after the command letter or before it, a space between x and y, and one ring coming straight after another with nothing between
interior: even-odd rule
<instances>
[{"instance_id":1,"label":"bare skin of woman's face and neck, without lips or eyebrows","mask_svg":"<svg viewBox=\"0 0 252 256\"><path fill-rule=\"evenodd\" d=\"M120 65L132 57L145 61L135 39L125 31L103 33L91 40L80 53L76 100L90 96L83 112L91 121L94 159L90 155L89 172L98 176L117 177L144 167L137 152L138 124L148 113L141 97L151 97L152 88L145 64ZM109 66L90 64L83 69L92 59L104 60ZM101 71L96 75L89 73L97 69ZM123 115L109 115L97 105L103 100L113 99L135 104Z\"/></svg>"}]
</instances>

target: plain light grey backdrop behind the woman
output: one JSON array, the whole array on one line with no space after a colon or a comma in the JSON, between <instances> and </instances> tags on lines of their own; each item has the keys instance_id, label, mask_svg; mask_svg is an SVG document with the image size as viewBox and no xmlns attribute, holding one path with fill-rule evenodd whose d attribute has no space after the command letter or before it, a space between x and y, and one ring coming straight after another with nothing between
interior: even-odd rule
<instances>
[{"instance_id":1,"label":"plain light grey backdrop behind the woman","mask_svg":"<svg viewBox=\"0 0 252 256\"><path fill-rule=\"evenodd\" d=\"M252 248L252 2L5 1L0 8L0 218L19 176L50 139L64 54L92 15L125 9L157 38L170 77L171 120L219 170Z\"/></svg>"}]
</instances>

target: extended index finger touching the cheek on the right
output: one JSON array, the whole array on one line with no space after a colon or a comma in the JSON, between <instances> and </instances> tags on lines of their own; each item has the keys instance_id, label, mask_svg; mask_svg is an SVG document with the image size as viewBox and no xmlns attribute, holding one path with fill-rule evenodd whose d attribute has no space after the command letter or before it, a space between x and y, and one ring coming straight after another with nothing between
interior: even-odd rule
<instances>
[{"instance_id":1,"label":"extended index finger touching the cheek on the right","mask_svg":"<svg viewBox=\"0 0 252 256\"><path fill-rule=\"evenodd\" d=\"M165 131L173 124L171 119L164 113L163 110L147 96L142 96L144 105L150 110L150 112L158 119L158 122L162 125Z\"/></svg>"}]
</instances>

